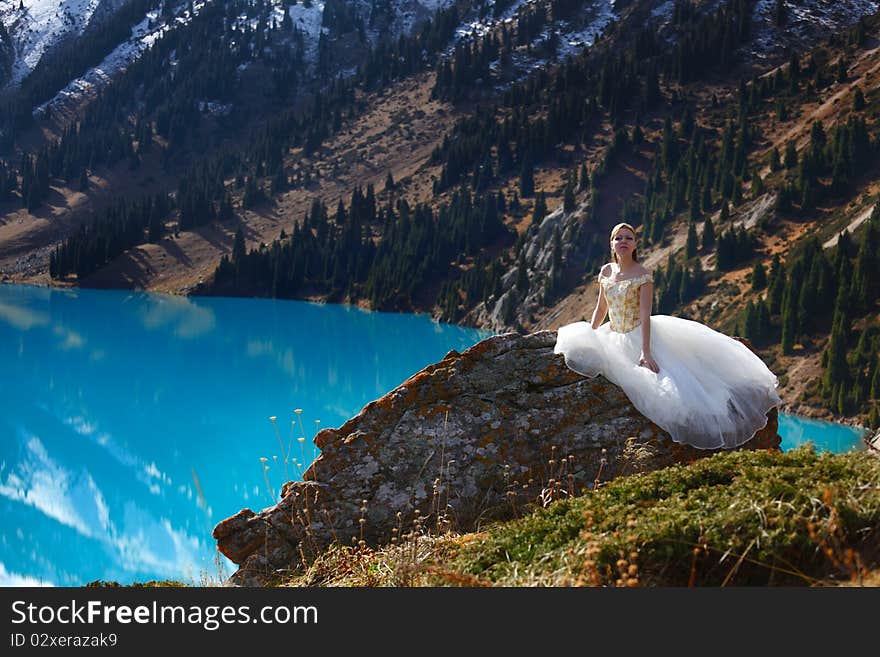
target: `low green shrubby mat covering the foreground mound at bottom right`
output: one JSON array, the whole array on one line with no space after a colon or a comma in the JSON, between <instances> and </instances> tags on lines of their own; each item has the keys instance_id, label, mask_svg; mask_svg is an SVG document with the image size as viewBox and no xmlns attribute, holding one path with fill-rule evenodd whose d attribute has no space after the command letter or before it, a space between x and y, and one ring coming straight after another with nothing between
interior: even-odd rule
<instances>
[{"instance_id":1,"label":"low green shrubby mat covering the foreground mound at bottom right","mask_svg":"<svg viewBox=\"0 0 880 657\"><path fill-rule=\"evenodd\" d=\"M642 585L811 584L852 575L847 550L876 563L878 508L868 454L718 454L497 525L453 570L509 586L613 583L623 558Z\"/></svg>"}]
</instances>

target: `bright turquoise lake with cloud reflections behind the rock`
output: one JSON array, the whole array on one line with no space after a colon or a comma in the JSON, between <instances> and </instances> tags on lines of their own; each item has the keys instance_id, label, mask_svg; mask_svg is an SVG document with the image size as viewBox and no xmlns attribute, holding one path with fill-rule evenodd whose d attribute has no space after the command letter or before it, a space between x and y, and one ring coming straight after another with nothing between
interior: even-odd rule
<instances>
[{"instance_id":1,"label":"bright turquoise lake with cloud reflections behind the rock","mask_svg":"<svg viewBox=\"0 0 880 657\"><path fill-rule=\"evenodd\" d=\"M338 305L0 285L0 585L218 583L234 566L211 529L271 505L317 430L489 335ZM784 449L862 445L850 427L779 426Z\"/></svg>"}]
</instances>

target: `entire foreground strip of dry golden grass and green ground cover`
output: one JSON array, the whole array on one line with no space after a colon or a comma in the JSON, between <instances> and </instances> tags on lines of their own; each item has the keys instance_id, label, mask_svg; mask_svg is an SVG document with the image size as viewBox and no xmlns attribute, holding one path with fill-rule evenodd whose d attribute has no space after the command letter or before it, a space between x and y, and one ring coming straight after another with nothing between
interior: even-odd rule
<instances>
[{"instance_id":1,"label":"entire foreground strip of dry golden grass and green ground cover","mask_svg":"<svg viewBox=\"0 0 880 657\"><path fill-rule=\"evenodd\" d=\"M531 513L478 534L437 532L417 515L392 536L333 545L282 585L870 586L880 460L810 447L722 453L546 508L539 496Z\"/></svg>"}]
</instances>

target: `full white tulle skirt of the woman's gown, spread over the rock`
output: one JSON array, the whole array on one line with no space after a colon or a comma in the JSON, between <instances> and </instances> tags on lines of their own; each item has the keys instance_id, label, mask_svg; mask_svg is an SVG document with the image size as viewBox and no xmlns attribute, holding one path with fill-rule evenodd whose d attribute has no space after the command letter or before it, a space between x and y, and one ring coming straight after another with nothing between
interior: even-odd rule
<instances>
[{"instance_id":1,"label":"full white tulle skirt of the woman's gown, spread over the rock","mask_svg":"<svg viewBox=\"0 0 880 657\"><path fill-rule=\"evenodd\" d=\"M620 386L639 412L676 442L700 449L737 447L767 424L782 400L776 376L748 347L704 324L651 317L654 373L639 365L642 327L612 331L606 322L562 326L553 353L584 376Z\"/></svg>"}]
</instances>

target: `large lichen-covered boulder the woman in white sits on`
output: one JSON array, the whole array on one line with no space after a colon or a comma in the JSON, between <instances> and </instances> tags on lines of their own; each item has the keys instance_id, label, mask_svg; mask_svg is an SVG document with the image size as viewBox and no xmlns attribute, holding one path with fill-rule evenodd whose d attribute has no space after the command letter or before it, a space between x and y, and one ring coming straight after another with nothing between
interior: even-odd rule
<instances>
[{"instance_id":1,"label":"large lichen-covered boulder the woman in white sits on","mask_svg":"<svg viewBox=\"0 0 880 657\"><path fill-rule=\"evenodd\" d=\"M260 585L333 542L392 541L413 527L469 531L580 495L596 482L711 452L672 442L602 377L553 354L555 331L507 333L449 352L338 429L281 501L214 528L239 565L231 583ZM748 448L778 448L775 409Z\"/></svg>"}]
</instances>

